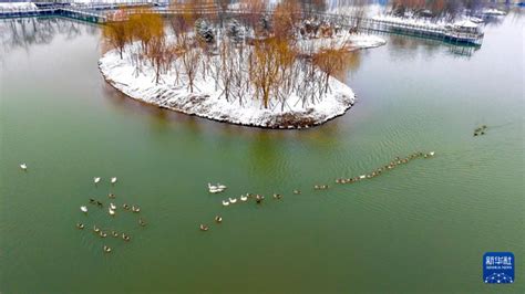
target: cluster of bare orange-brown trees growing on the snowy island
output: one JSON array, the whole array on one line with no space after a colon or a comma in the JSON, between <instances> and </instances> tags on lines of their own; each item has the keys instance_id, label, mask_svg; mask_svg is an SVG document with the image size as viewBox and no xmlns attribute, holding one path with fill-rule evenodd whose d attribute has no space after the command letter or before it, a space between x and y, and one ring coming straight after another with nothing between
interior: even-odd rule
<instances>
[{"instance_id":1,"label":"cluster of bare orange-brown trees growing on the snowy island","mask_svg":"<svg viewBox=\"0 0 525 294\"><path fill-rule=\"evenodd\" d=\"M341 70L346 52L328 48L305 54L298 50L301 7L296 0L284 0L271 12L262 0L245 4L250 13L227 23L181 8L167 22L169 38L162 18L154 13L109 23L103 35L121 59L130 50L137 72L148 63L155 83L169 73L164 76L173 81L162 82L185 86L191 93L213 84L219 98L230 103L243 106L256 99L261 107L281 109L290 107L292 96L300 97L294 103L303 107L326 97L330 76Z\"/></svg>"}]
</instances>

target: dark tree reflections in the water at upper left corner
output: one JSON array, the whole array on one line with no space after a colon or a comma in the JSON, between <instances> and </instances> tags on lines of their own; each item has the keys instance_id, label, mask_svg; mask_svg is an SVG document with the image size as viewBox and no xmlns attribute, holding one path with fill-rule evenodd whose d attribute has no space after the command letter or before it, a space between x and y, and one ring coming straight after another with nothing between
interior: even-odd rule
<instances>
[{"instance_id":1,"label":"dark tree reflections in the water at upper left corner","mask_svg":"<svg viewBox=\"0 0 525 294\"><path fill-rule=\"evenodd\" d=\"M56 35L74 39L83 33L95 34L96 27L69 19L23 18L0 21L0 55L14 49L49 44Z\"/></svg>"}]
</instances>

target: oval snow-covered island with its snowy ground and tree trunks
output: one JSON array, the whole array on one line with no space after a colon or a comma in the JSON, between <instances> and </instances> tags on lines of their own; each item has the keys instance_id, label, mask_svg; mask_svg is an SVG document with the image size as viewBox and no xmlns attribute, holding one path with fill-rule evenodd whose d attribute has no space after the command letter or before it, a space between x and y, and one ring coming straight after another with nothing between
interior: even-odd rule
<instances>
[{"instance_id":1,"label":"oval snow-covered island with its snowy ground and tree trunks","mask_svg":"<svg viewBox=\"0 0 525 294\"><path fill-rule=\"evenodd\" d=\"M332 32L300 38L292 55L280 43L246 41L248 33L233 27L216 35L197 28L205 46L192 33L165 36L167 48L184 43L185 49L162 57L162 65L161 59L143 56L135 41L122 48L122 59L117 48L107 51L99 67L116 90L163 108L246 126L308 128L344 114L356 102L352 90L333 77L344 56L330 52L385 43L374 35ZM148 55L155 50L150 48Z\"/></svg>"}]
</instances>

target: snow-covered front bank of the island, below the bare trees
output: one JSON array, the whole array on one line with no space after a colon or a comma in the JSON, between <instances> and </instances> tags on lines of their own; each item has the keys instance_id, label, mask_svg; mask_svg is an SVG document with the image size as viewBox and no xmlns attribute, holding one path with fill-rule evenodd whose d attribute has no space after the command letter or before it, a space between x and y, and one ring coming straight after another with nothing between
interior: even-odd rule
<instances>
[{"instance_id":1,"label":"snow-covered front bank of the island, below the bare trees","mask_svg":"<svg viewBox=\"0 0 525 294\"><path fill-rule=\"evenodd\" d=\"M370 48L371 44L360 45ZM329 81L331 93L321 102L301 107L290 98L291 106L281 111L265 109L260 106L260 101L248 102L243 107L238 103L226 102L225 98L219 98L220 95L206 81L197 83L200 90L194 93L185 87L174 86L173 83L155 84L150 71L137 75L126 57L119 57L116 50L106 52L100 59L99 69L110 85L131 98L187 115L251 127L309 128L346 114L356 103L353 91L333 77ZM173 81L173 76L167 74L163 80ZM295 98L298 101L298 97Z\"/></svg>"}]
</instances>

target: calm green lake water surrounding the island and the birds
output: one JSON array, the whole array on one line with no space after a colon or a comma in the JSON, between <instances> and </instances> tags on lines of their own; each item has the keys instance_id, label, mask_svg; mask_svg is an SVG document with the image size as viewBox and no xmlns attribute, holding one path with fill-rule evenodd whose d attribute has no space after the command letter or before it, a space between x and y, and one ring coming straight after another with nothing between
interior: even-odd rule
<instances>
[{"instance_id":1,"label":"calm green lake water surrounding the island and the birds","mask_svg":"<svg viewBox=\"0 0 525 294\"><path fill-rule=\"evenodd\" d=\"M524 293L523 32L509 14L476 51L384 35L347 75L352 109L315 129L272 132L119 94L97 70L97 27L2 21L0 292ZM474 138L482 124L487 135ZM311 188L416 150L436 156ZM208 181L230 188L212 196ZM122 209L114 219L80 212L110 191L140 204L148 225ZM220 206L241 192L285 197ZM93 224L132 241L99 238ZM513 285L483 284L486 251L514 252Z\"/></svg>"}]
</instances>

